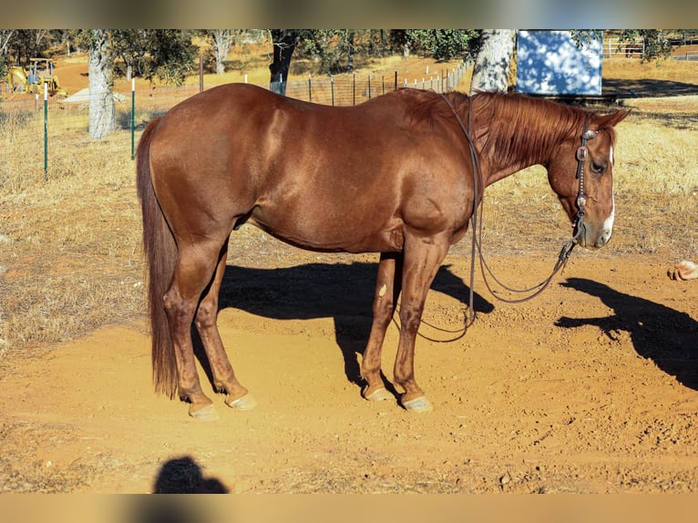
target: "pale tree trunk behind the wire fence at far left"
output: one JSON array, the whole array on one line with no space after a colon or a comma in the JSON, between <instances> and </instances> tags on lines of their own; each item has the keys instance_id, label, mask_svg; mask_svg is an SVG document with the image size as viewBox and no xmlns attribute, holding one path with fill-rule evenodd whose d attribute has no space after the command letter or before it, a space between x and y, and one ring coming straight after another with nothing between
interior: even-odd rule
<instances>
[{"instance_id":1,"label":"pale tree trunk behind the wire fence at far left","mask_svg":"<svg viewBox=\"0 0 698 523\"><path fill-rule=\"evenodd\" d=\"M114 56L105 29L92 30L89 49L89 138L106 137L117 125L114 107Z\"/></svg>"}]
</instances>

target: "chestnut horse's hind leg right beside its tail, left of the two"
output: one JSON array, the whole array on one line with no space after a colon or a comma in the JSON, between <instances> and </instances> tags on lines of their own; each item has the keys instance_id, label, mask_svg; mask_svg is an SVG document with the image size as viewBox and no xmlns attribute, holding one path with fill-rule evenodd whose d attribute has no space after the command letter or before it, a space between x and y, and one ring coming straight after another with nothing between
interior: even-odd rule
<instances>
[{"instance_id":1,"label":"chestnut horse's hind leg right beside its tail, left of the two","mask_svg":"<svg viewBox=\"0 0 698 523\"><path fill-rule=\"evenodd\" d=\"M191 343L191 323L201 292L216 268L221 244L199 243L180 247L177 265L169 289L165 292L165 313L174 345L180 398L190 402L190 415L215 416L212 401L203 393Z\"/></svg>"}]
</instances>

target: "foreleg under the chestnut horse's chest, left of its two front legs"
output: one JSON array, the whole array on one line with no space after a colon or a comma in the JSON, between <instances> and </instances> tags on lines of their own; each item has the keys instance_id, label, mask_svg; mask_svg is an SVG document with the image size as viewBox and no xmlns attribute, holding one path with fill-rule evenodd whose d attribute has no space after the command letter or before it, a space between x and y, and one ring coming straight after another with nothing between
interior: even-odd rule
<instances>
[{"instance_id":1,"label":"foreleg under the chestnut horse's chest, left of its two front legs","mask_svg":"<svg viewBox=\"0 0 698 523\"><path fill-rule=\"evenodd\" d=\"M378 276L375 281L374 321L361 361L361 375L366 381L363 395L368 400L393 398L393 395L385 390L381 377L381 352L385 331L387 331L395 312L395 303L397 303L397 297L400 294L401 281L402 254L381 254Z\"/></svg>"}]
</instances>

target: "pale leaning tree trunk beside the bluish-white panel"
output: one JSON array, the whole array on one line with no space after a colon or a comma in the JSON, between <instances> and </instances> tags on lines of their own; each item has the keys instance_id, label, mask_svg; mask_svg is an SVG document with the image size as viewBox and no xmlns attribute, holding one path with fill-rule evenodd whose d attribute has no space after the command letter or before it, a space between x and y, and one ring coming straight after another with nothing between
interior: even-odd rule
<instances>
[{"instance_id":1,"label":"pale leaning tree trunk beside the bluish-white panel","mask_svg":"<svg viewBox=\"0 0 698 523\"><path fill-rule=\"evenodd\" d=\"M470 94L476 90L507 92L516 36L516 31L511 29L490 29L482 32L482 42L470 81Z\"/></svg>"}]
</instances>

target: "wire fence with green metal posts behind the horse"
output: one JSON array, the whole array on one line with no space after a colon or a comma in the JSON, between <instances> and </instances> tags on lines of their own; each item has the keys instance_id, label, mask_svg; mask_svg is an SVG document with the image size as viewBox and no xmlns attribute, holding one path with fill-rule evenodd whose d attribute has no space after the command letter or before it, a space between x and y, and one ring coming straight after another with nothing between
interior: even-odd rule
<instances>
[{"instance_id":1,"label":"wire fence with green metal posts behind the horse","mask_svg":"<svg viewBox=\"0 0 698 523\"><path fill-rule=\"evenodd\" d=\"M344 75L308 77L262 87L314 103L351 106L399 87L447 92L466 74L460 66L431 77ZM133 159L140 132L152 118L180 101L214 85L157 87L114 94L116 128L107 138L89 138L90 95L87 89L66 98L15 94L0 101L0 190L20 190L26 183L69 175L80 169L80 150L98 148L101 154ZM5 87L5 95L6 87ZM70 151L74 151L71 154Z\"/></svg>"}]
</instances>

